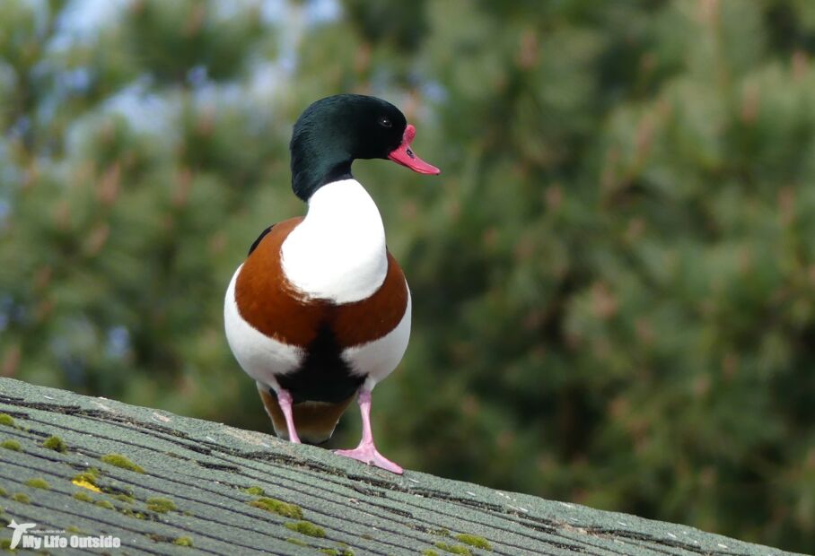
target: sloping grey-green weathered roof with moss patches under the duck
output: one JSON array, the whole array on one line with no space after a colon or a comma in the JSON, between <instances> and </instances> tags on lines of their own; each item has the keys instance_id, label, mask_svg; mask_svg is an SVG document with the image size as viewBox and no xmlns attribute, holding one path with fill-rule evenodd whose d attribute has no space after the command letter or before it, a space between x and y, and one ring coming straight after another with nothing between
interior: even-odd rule
<instances>
[{"instance_id":1,"label":"sloping grey-green weathered roof with moss patches under the duck","mask_svg":"<svg viewBox=\"0 0 815 556\"><path fill-rule=\"evenodd\" d=\"M788 553L425 473L397 476L320 447L10 378L0 378L0 413L13 418L0 418L0 444L20 447L0 447L0 519L112 534L122 543L114 554ZM43 447L52 435L66 442L65 452ZM127 456L144 473L103 462L109 454ZM99 470L95 479L76 478L89 468ZM31 479L49 489L27 485ZM260 498L251 487L294 505L276 508L289 516L250 505ZM17 493L28 503L14 500ZM289 528L301 521L324 536ZM11 529L0 532L10 537ZM174 543L185 537L191 547ZM476 546L485 540L489 549Z\"/></svg>"}]
</instances>

